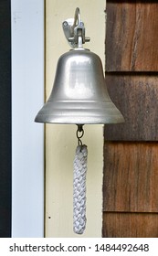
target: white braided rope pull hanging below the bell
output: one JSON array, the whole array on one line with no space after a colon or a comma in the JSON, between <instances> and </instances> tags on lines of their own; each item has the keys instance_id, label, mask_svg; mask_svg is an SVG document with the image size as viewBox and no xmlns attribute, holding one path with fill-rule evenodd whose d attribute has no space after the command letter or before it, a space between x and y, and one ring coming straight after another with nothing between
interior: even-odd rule
<instances>
[{"instance_id":1,"label":"white braided rope pull hanging below the bell","mask_svg":"<svg viewBox=\"0 0 158 256\"><path fill-rule=\"evenodd\" d=\"M74 159L73 230L82 234L86 228L87 145L78 145Z\"/></svg>"}]
</instances>

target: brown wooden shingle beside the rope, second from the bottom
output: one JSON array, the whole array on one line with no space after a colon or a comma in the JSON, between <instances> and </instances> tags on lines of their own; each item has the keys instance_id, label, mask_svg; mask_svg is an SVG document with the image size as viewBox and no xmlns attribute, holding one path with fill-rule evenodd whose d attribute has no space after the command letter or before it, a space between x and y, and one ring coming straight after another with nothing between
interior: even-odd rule
<instances>
[{"instance_id":1,"label":"brown wooden shingle beside the rope, second from the bottom","mask_svg":"<svg viewBox=\"0 0 158 256\"><path fill-rule=\"evenodd\" d=\"M103 210L158 212L158 144L105 143Z\"/></svg>"}]
</instances>

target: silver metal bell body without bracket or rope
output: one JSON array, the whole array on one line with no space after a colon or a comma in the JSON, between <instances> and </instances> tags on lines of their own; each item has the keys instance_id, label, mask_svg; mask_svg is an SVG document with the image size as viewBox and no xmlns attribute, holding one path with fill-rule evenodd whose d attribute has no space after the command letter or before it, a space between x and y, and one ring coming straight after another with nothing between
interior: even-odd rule
<instances>
[{"instance_id":1,"label":"silver metal bell body without bracket or rope","mask_svg":"<svg viewBox=\"0 0 158 256\"><path fill-rule=\"evenodd\" d=\"M122 123L110 99L99 56L76 48L58 59L53 90L37 113L38 123Z\"/></svg>"}]
</instances>

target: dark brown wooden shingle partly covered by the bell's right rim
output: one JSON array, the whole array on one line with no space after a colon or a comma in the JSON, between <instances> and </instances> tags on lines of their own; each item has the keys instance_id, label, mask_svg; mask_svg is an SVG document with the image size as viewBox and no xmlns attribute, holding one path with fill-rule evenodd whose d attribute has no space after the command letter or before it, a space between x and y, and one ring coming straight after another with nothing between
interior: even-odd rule
<instances>
[{"instance_id":1,"label":"dark brown wooden shingle partly covered by the bell's right rim","mask_svg":"<svg viewBox=\"0 0 158 256\"><path fill-rule=\"evenodd\" d=\"M105 125L105 139L158 141L158 76L107 74L106 85L125 123Z\"/></svg>"}]
</instances>

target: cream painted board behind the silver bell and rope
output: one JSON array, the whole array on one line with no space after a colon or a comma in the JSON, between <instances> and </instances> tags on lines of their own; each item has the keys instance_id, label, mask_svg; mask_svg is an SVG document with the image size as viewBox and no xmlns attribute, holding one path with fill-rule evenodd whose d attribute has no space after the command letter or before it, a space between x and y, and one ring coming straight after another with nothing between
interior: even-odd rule
<instances>
[{"instance_id":1,"label":"cream painted board behind the silver bell and rope","mask_svg":"<svg viewBox=\"0 0 158 256\"><path fill-rule=\"evenodd\" d=\"M69 50L62 22L79 7L90 43L104 63L105 1L46 0L46 96L52 89L58 58ZM87 229L73 232L73 160L77 126L46 125L46 237L101 237L102 228L102 125L85 125L83 143L88 145Z\"/></svg>"}]
</instances>

